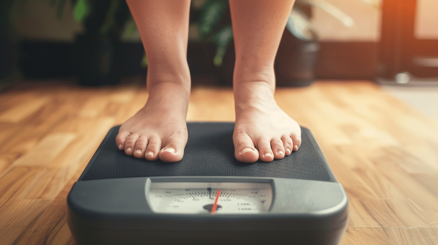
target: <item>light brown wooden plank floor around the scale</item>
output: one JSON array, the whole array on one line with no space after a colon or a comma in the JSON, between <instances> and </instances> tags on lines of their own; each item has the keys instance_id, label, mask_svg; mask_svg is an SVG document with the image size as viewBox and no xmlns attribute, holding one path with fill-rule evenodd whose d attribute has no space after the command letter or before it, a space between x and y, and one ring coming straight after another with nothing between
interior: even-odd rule
<instances>
[{"instance_id":1,"label":"light brown wooden plank floor around the scale","mask_svg":"<svg viewBox=\"0 0 438 245\"><path fill-rule=\"evenodd\" d=\"M0 94L0 244L74 245L66 198L109 128L145 103L142 81L23 83ZM350 200L342 245L438 244L438 123L367 81L278 88ZM194 87L188 121L233 121L231 88Z\"/></svg>"}]
</instances>

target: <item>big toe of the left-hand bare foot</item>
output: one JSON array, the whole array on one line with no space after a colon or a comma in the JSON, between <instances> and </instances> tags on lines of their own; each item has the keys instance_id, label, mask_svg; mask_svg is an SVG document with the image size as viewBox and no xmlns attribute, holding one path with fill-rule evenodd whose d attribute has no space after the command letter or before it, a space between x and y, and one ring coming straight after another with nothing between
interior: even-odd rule
<instances>
[{"instance_id":1,"label":"big toe of the left-hand bare foot","mask_svg":"<svg viewBox=\"0 0 438 245\"><path fill-rule=\"evenodd\" d=\"M187 143L187 137L183 135L174 134L171 139L159 152L159 158L161 161L176 162L183 159L184 146Z\"/></svg>"}]
</instances>

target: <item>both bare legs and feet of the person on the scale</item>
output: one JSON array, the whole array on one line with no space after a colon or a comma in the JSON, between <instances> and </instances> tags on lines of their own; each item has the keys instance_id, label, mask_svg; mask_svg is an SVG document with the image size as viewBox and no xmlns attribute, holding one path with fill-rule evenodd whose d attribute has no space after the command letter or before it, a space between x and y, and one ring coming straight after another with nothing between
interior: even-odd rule
<instances>
[{"instance_id":1,"label":"both bare legs and feet of the person on the scale","mask_svg":"<svg viewBox=\"0 0 438 245\"><path fill-rule=\"evenodd\" d=\"M136 158L180 161L190 96L187 37L190 0L127 0L148 57L148 101L120 126L116 144ZM297 151L301 131L274 99L274 59L293 0L230 0L235 157L252 163Z\"/></svg>"}]
</instances>

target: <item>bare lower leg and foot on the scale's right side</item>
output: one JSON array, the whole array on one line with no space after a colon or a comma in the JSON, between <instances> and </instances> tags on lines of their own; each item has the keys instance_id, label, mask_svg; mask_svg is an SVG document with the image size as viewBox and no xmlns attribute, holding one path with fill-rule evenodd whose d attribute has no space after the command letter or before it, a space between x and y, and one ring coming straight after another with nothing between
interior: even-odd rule
<instances>
[{"instance_id":1,"label":"bare lower leg and foot on the scale's right side","mask_svg":"<svg viewBox=\"0 0 438 245\"><path fill-rule=\"evenodd\" d=\"M274 59L292 6L293 0L230 0L236 48L233 141L239 161L272 161L300 146L300 127L273 95Z\"/></svg>"}]
</instances>

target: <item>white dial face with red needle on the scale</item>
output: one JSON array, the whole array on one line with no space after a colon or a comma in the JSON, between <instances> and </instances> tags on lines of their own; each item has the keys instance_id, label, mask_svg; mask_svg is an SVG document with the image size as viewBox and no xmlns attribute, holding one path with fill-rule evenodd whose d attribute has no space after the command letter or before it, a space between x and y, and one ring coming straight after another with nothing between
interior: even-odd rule
<instances>
[{"instance_id":1,"label":"white dial face with red needle on the scale","mask_svg":"<svg viewBox=\"0 0 438 245\"><path fill-rule=\"evenodd\" d=\"M162 214L258 214L271 207L272 188L257 182L152 182L148 201Z\"/></svg>"}]
</instances>

